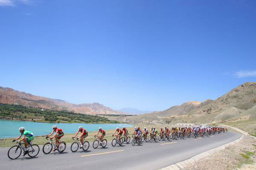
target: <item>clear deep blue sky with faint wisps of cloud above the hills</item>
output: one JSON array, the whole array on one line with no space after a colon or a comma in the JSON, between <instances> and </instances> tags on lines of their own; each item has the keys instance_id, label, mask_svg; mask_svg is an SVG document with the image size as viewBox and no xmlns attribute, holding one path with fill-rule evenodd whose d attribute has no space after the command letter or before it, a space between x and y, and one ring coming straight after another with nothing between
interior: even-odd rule
<instances>
[{"instance_id":1,"label":"clear deep blue sky with faint wisps of cloud above the hills","mask_svg":"<svg viewBox=\"0 0 256 170\"><path fill-rule=\"evenodd\" d=\"M0 86L159 111L256 81L255 0L0 0Z\"/></svg>"}]
</instances>

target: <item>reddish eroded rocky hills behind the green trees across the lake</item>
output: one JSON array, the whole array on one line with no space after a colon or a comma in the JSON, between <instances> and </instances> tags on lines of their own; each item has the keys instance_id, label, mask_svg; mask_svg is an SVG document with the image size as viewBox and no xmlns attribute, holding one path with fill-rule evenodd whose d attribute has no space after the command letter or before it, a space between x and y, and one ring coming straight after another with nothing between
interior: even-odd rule
<instances>
[{"instance_id":1,"label":"reddish eroded rocky hills behind the green trees across the lake","mask_svg":"<svg viewBox=\"0 0 256 170\"><path fill-rule=\"evenodd\" d=\"M0 87L0 103L46 108L56 111L71 111L86 114L123 114L99 103L72 104L60 99L35 96L12 88Z\"/></svg>"}]
</instances>

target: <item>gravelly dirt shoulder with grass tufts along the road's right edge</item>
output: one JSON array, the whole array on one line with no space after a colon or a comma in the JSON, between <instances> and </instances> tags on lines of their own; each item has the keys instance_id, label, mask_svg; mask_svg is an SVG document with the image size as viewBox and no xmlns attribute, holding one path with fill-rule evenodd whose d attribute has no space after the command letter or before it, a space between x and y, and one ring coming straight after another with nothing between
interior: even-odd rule
<instances>
[{"instance_id":1,"label":"gravelly dirt shoulder with grass tufts along the road's right edge","mask_svg":"<svg viewBox=\"0 0 256 170\"><path fill-rule=\"evenodd\" d=\"M195 161L183 170L256 170L256 139L244 138L224 150Z\"/></svg>"}]
</instances>

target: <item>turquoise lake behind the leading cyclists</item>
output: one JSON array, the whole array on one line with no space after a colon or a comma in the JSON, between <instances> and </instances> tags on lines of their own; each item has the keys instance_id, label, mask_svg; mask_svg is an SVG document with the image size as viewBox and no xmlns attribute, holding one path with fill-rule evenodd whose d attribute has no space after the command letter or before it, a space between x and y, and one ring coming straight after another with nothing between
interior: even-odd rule
<instances>
[{"instance_id":1,"label":"turquoise lake behind the leading cyclists","mask_svg":"<svg viewBox=\"0 0 256 170\"><path fill-rule=\"evenodd\" d=\"M86 124L86 123L38 123L25 121L0 120L0 139L20 136L19 128L25 127L34 133L35 136L47 135L52 131L52 126L64 130L64 133L76 133L79 126L87 131L96 131L101 126L104 130L115 129L116 127L132 127L130 124Z\"/></svg>"}]
</instances>

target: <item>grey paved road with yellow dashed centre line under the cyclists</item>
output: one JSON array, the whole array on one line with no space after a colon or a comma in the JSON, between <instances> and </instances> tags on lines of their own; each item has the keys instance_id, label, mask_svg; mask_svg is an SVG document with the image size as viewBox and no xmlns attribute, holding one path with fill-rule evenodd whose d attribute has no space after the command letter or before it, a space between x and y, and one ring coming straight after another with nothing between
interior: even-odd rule
<instances>
[{"instance_id":1,"label":"grey paved road with yellow dashed centre line under the cyclists","mask_svg":"<svg viewBox=\"0 0 256 170\"><path fill-rule=\"evenodd\" d=\"M239 139L239 133L221 133L203 139L181 139L171 142L143 143L141 146L112 147L108 142L106 148L93 149L90 146L87 152L70 151L67 145L64 153L50 153L44 155L42 150L35 158L20 156L19 159L10 160L7 157L9 148L0 149L0 167L2 170L157 170L191 158L199 153L221 146Z\"/></svg>"}]
</instances>

